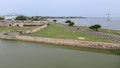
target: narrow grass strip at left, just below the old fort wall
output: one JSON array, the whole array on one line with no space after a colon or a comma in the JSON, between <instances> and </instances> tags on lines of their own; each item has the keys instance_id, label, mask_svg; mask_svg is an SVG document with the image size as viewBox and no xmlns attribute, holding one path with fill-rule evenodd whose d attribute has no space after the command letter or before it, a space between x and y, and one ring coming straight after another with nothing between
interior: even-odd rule
<instances>
[{"instance_id":1,"label":"narrow grass strip at left, just below the old fort wall","mask_svg":"<svg viewBox=\"0 0 120 68\"><path fill-rule=\"evenodd\" d=\"M27 31L27 30L31 30L33 28L36 28L36 27L0 27L0 32L5 32L5 31L11 31L11 30L14 30L14 31Z\"/></svg>"}]
</instances>

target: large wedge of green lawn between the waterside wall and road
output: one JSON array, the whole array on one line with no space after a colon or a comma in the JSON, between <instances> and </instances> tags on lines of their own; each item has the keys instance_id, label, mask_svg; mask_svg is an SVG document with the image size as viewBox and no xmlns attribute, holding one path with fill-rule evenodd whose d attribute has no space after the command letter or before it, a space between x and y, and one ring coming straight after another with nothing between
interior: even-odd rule
<instances>
[{"instance_id":1,"label":"large wedge of green lawn between the waterside wall and road","mask_svg":"<svg viewBox=\"0 0 120 68\"><path fill-rule=\"evenodd\" d=\"M72 32L69 29L64 29L57 27L55 25L49 25L47 28L40 30L33 34L28 34L29 36L37 37L49 37L49 38L62 38L62 39L77 39L78 37L84 37L83 41L95 41L95 42L111 42L110 40L103 39L97 36L91 36L89 34Z\"/></svg>"}]
</instances>

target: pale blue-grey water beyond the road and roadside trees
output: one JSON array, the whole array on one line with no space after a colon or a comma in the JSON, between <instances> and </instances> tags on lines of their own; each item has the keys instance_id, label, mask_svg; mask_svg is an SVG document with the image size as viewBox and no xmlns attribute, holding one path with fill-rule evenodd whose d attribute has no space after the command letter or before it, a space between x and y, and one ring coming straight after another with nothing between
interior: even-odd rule
<instances>
[{"instance_id":1,"label":"pale blue-grey water beyond the road and roadside trees","mask_svg":"<svg viewBox=\"0 0 120 68\"><path fill-rule=\"evenodd\" d=\"M54 19L49 19L50 21ZM106 17L86 17L77 19L56 19L60 23L64 23L66 20L71 20L76 26L89 27L94 24L100 24L102 28L108 28L108 19ZM120 30L120 17L110 17L110 29Z\"/></svg>"}]
</instances>

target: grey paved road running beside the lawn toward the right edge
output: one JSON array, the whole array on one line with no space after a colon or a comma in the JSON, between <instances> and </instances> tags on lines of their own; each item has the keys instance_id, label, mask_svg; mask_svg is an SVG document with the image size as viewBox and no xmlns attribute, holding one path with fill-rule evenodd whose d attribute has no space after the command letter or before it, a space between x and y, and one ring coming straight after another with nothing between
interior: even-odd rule
<instances>
[{"instance_id":1,"label":"grey paved road running beside the lawn toward the right edge","mask_svg":"<svg viewBox=\"0 0 120 68\"><path fill-rule=\"evenodd\" d=\"M98 36L98 37L106 38L106 39L109 39L109 40L116 41L116 42L120 43L120 36L106 34L106 33L102 33L102 32L96 32L96 31L92 31L92 30L85 30L85 29L77 30L77 28L69 27L69 26L62 25L62 24L55 24L55 25L59 26L59 27L62 27L62 28L70 29L72 31L79 31L79 32L82 32L82 33L95 35L95 36Z\"/></svg>"}]
</instances>

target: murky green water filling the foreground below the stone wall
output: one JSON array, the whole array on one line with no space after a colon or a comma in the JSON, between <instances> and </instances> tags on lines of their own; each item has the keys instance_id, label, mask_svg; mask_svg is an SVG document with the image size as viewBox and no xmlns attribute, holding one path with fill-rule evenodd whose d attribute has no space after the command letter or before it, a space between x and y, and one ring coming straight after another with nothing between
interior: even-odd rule
<instances>
[{"instance_id":1,"label":"murky green water filling the foreground below the stone wall","mask_svg":"<svg viewBox=\"0 0 120 68\"><path fill-rule=\"evenodd\" d=\"M120 56L0 40L0 68L120 68Z\"/></svg>"}]
</instances>

